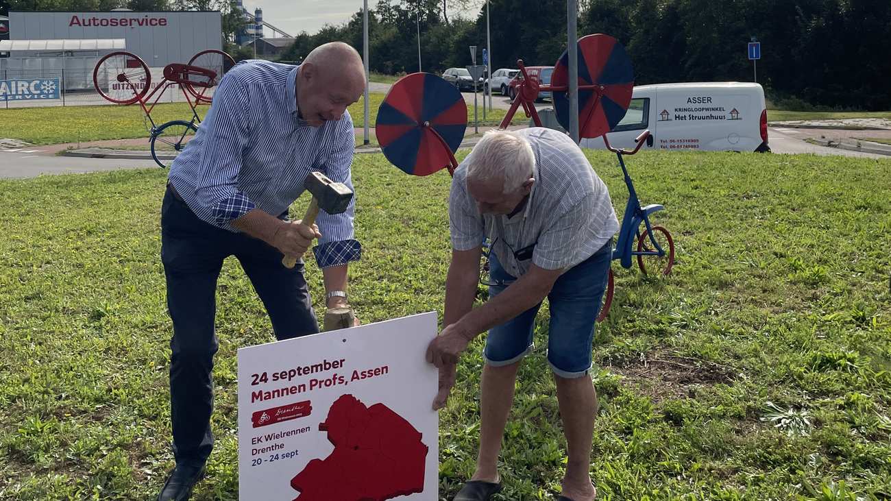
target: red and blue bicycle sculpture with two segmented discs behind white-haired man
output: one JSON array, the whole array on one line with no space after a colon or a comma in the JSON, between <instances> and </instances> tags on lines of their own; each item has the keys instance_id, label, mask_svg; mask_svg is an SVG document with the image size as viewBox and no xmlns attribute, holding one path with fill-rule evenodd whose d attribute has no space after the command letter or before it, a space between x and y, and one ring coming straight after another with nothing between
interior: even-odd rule
<instances>
[{"instance_id":1,"label":"red and blue bicycle sculpture with two segmented discs behind white-haired man","mask_svg":"<svg viewBox=\"0 0 891 501\"><path fill-rule=\"evenodd\" d=\"M650 138L650 131L638 136L634 151L613 148L607 137L607 133L625 117L631 103L634 91L631 60L625 47L615 38L597 34L578 40L577 62L579 136L603 138L609 151L616 153L628 188L628 201L612 259L618 259L622 267L630 268L636 258L642 273L658 271L668 275L674 266L674 240L666 228L650 223L650 214L664 208L657 204L641 206L624 160L625 155L640 150ZM554 65L551 85L541 85L529 78L522 60L517 66L523 78L501 128L506 129L511 124L520 107L537 127L542 127L535 111L535 99L540 92L551 92L557 120L568 129L568 53L564 52ZM449 174L454 173L458 167L454 152L461 144L466 127L467 106L454 86L435 75L413 73L399 79L380 104L376 133L381 150L391 163L408 174L428 176L442 168L447 168ZM488 251L488 242L483 242L486 258ZM480 272L484 283L486 271L487 264L484 263ZM609 313L614 291L610 269L598 320L603 320Z\"/></svg>"}]
</instances>

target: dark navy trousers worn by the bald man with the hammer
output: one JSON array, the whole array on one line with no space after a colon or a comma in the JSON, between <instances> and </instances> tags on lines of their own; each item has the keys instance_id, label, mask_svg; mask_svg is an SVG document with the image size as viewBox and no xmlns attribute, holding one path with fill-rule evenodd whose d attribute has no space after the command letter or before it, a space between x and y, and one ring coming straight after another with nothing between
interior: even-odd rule
<instances>
[{"instance_id":1,"label":"dark navy trousers worn by the bald man with the hammer","mask_svg":"<svg viewBox=\"0 0 891 501\"><path fill-rule=\"evenodd\" d=\"M161 261L173 320L170 414L177 464L204 463L213 448L217 276L229 256L241 261L277 339L319 332L302 262L283 267L282 253L274 247L205 223L168 187L161 205Z\"/></svg>"}]
</instances>

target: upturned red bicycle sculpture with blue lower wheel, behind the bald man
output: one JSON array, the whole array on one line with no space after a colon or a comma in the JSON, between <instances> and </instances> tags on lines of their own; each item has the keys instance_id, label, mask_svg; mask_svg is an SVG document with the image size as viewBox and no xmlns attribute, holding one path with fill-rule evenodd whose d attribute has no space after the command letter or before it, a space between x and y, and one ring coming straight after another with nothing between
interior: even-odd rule
<instances>
[{"instance_id":1,"label":"upturned red bicycle sculpture with blue lower wheel, behind the bald man","mask_svg":"<svg viewBox=\"0 0 891 501\"><path fill-rule=\"evenodd\" d=\"M171 63L164 67L164 78L152 88L151 72L145 62L134 53L113 52L102 57L93 70L96 92L107 101L116 104L139 103L145 113L149 131L151 158L162 168L170 167L176 154L198 131L201 119L196 107L209 104L213 91L226 71L235 62L229 54L215 49L201 51L192 56L187 64ZM192 119L171 120L156 124L151 111L159 103L164 91L178 86L192 110Z\"/></svg>"}]
</instances>

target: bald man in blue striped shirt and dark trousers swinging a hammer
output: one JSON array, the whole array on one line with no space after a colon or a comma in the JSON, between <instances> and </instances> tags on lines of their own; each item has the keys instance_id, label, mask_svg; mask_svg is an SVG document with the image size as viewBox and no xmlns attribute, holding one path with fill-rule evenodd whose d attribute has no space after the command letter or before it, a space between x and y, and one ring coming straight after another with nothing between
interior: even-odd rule
<instances>
[{"instance_id":1,"label":"bald man in blue striped shirt and dark trousers swinging a hammer","mask_svg":"<svg viewBox=\"0 0 891 501\"><path fill-rule=\"evenodd\" d=\"M347 106L364 91L364 68L349 45L320 45L300 66L241 62L220 82L208 116L174 160L161 209L161 260L167 276L170 404L176 468L160 500L190 497L213 448L211 369L217 276L241 261L275 337L318 333L303 261L314 239L327 306L346 306L347 263L359 259L354 206L321 212L318 226L288 221L290 203L314 170L352 188L353 120Z\"/></svg>"}]
</instances>

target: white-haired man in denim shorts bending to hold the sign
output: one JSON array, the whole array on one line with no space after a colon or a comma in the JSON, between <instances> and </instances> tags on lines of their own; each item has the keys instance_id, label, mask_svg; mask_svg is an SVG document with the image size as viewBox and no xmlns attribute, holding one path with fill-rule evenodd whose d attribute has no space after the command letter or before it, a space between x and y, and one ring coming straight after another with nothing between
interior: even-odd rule
<instances>
[{"instance_id":1,"label":"white-haired man in denim shorts bending to hold the sign","mask_svg":"<svg viewBox=\"0 0 891 501\"><path fill-rule=\"evenodd\" d=\"M606 185L578 146L558 131L493 131L455 170L449 219L453 250L444 330L427 351L428 361L439 368L434 408L446 405L462 351L489 331L477 469L455 501L489 499L501 489L498 454L514 383L522 358L533 350L535 315L545 297L551 310L547 359L568 442L560 499L591 501L597 395L588 370L618 231ZM489 300L472 308L485 237L492 242Z\"/></svg>"}]
</instances>

